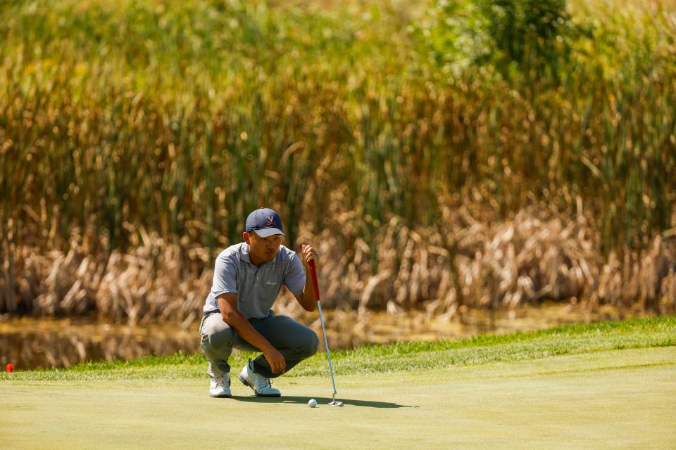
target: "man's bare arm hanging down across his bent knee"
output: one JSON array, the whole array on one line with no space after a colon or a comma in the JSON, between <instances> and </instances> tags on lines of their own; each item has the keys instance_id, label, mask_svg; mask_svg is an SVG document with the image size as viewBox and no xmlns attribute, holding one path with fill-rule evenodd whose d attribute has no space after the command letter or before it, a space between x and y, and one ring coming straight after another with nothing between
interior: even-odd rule
<instances>
[{"instance_id":1,"label":"man's bare arm hanging down across his bent knee","mask_svg":"<svg viewBox=\"0 0 676 450\"><path fill-rule=\"evenodd\" d=\"M273 373L280 373L286 369L284 356L273 347L267 339L258 333L246 317L237 309L237 294L225 293L218 296L218 309L223 321L234 328L237 334L242 336L246 342L253 345L263 352L263 356L270 364L270 370Z\"/></svg>"}]
</instances>

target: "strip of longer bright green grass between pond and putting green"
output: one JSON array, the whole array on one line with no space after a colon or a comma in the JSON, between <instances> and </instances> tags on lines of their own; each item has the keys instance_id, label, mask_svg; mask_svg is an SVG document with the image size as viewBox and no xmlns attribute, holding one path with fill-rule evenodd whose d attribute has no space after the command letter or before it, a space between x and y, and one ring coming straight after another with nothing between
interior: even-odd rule
<instances>
[{"instance_id":1,"label":"strip of longer bright green grass between pond and putting green","mask_svg":"<svg viewBox=\"0 0 676 450\"><path fill-rule=\"evenodd\" d=\"M549 356L584 354L614 349L670 347L676 345L676 317L605 321L567 325L527 333L479 335L463 340L400 342L368 345L332 352L337 376L449 369L493 362L527 361ZM244 366L251 354L235 352L233 368ZM233 369L235 370L235 369ZM68 369L1 373L0 380L102 381L133 379L204 379L206 359L202 354L146 356L132 361L92 362ZM325 354L284 375L326 375Z\"/></svg>"}]
</instances>

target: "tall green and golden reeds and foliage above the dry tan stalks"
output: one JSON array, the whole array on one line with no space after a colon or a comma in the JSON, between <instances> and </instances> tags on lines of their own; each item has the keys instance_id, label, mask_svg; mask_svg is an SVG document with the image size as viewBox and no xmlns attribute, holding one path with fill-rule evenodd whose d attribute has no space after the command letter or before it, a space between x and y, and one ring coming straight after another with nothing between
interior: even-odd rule
<instances>
[{"instance_id":1,"label":"tall green and golden reeds and foliage above the dry tan stalks","mask_svg":"<svg viewBox=\"0 0 676 450\"><path fill-rule=\"evenodd\" d=\"M676 234L671 1L37 0L0 18L6 298L20 248L159 238L199 274L263 205L289 247L303 227L367 243L363 276L384 224L443 230L449 209L587 214L603 261Z\"/></svg>"}]
</instances>

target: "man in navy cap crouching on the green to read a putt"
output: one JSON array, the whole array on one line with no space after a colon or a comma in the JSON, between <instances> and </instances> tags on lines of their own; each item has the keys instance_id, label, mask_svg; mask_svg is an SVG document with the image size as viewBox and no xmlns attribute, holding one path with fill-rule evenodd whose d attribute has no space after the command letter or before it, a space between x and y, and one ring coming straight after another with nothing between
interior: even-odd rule
<instances>
[{"instance_id":1,"label":"man in navy cap crouching on the green to read a putt","mask_svg":"<svg viewBox=\"0 0 676 450\"><path fill-rule=\"evenodd\" d=\"M239 380L258 397L280 397L270 378L290 371L315 352L319 341L310 328L270 309L282 284L307 311L317 307L308 262L318 259L310 245L303 255L284 247L282 221L277 212L261 208L246 218L243 243L218 255L211 293L206 297L199 326L201 347L209 361L211 397L232 397L232 349L262 352L239 373Z\"/></svg>"}]
</instances>

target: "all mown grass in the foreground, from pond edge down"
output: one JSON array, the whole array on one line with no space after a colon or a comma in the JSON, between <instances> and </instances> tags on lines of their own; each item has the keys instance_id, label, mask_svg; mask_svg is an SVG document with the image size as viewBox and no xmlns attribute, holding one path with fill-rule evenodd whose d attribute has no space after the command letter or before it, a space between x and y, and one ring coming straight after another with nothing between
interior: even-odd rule
<instances>
[{"instance_id":1,"label":"all mown grass in the foreground, from pond edge down","mask_svg":"<svg viewBox=\"0 0 676 450\"><path fill-rule=\"evenodd\" d=\"M674 449L676 330L672 319L655 323L660 330L639 328L644 344L659 335L656 345L625 345L618 327L629 342L637 340L624 325L597 332L572 327L565 333L559 328L553 334L477 338L475 347L456 342L458 348L442 352L485 353L496 339L495 354L503 356L478 362L456 354L457 364L425 368L411 358L411 368L380 372L362 370L364 362L337 377L342 408L327 406L327 373L275 380L280 399L253 397L233 377L234 398L211 399L204 367L201 378L190 375L192 356L163 366L146 360L155 378L133 364L99 368L96 377L82 367L53 379L46 374L54 371L4 375L0 443L20 449ZM527 349L552 335L565 335L562 340L579 349L580 336L588 333L599 345L608 335L620 345L550 354ZM406 348L423 358L425 350L414 347L344 352L342 364L362 354L387 368L397 356L382 348L399 349L404 360ZM316 359L325 364L323 355ZM170 376L162 378L160 367ZM178 376L181 371L187 375ZM318 400L315 409L307 406L311 398Z\"/></svg>"}]
</instances>

